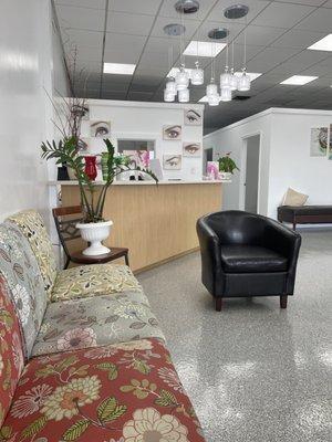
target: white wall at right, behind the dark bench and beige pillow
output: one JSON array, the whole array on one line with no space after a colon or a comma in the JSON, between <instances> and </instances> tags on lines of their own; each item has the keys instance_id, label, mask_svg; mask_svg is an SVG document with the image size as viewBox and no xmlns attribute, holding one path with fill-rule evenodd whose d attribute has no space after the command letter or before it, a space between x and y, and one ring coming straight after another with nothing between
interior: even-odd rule
<instances>
[{"instance_id":1,"label":"white wall at right, behind the dark bench and beige pillow","mask_svg":"<svg viewBox=\"0 0 332 442\"><path fill-rule=\"evenodd\" d=\"M279 109L271 119L271 157L268 214L277 207L288 187L309 194L307 204L332 204L332 160L310 157L310 129L329 127L332 112Z\"/></svg>"}]
</instances>

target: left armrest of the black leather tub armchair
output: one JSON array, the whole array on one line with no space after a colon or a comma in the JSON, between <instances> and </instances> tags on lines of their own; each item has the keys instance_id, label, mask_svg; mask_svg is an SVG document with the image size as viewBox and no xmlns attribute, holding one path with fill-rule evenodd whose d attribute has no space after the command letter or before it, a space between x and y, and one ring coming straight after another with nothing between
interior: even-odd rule
<instances>
[{"instance_id":1,"label":"left armrest of the black leather tub armchair","mask_svg":"<svg viewBox=\"0 0 332 442\"><path fill-rule=\"evenodd\" d=\"M201 282L214 296L218 296L218 293L222 290L224 275L220 240L204 218L197 221L196 230L200 245Z\"/></svg>"}]
</instances>

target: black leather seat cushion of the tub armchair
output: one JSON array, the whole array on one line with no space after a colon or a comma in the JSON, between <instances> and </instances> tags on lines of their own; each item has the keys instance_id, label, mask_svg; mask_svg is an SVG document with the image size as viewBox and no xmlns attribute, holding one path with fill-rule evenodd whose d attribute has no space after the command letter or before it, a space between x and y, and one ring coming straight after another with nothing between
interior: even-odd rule
<instances>
[{"instance_id":1,"label":"black leather seat cushion of the tub armchair","mask_svg":"<svg viewBox=\"0 0 332 442\"><path fill-rule=\"evenodd\" d=\"M226 273L286 272L287 257L258 245L221 245L221 264Z\"/></svg>"}]
</instances>

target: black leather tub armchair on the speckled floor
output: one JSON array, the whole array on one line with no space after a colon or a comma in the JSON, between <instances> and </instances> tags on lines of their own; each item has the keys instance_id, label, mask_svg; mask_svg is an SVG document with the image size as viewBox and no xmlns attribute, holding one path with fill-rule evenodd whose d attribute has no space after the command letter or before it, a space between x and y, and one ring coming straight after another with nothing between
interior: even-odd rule
<instances>
[{"instance_id":1,"label":"black leather tub armchair on the speckled floor","mask_svg":"<svg viewBox=\"0 0 332 442\"><path fill-rule=\"evenodd\" d=\"M201 282L221 311L224 297L293 294L301 245L299 233L278 221L240 210L207 214L197 221Z\"/></svg>"}]
</instances>

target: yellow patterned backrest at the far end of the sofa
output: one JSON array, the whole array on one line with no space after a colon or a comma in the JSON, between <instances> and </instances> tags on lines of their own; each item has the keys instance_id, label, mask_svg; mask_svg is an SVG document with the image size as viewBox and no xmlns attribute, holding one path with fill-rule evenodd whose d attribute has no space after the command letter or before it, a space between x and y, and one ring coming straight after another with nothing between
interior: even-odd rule
<instances>
[{"instance_id":1,"label":"yellow patterned backrest at the far end of the sofa","mask_svg":"<svg viewBox=\"0 0 332 442\"><path fill-rule=\"evenodd\" d=\"M42 217L34 210L24 210L9 217L7 221L17 224L28 239L44 281L45 292L50 297L58 269L53 246Z\"/></svg>"}]
</instances>

